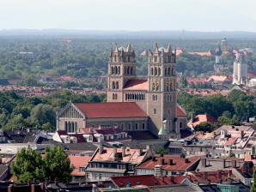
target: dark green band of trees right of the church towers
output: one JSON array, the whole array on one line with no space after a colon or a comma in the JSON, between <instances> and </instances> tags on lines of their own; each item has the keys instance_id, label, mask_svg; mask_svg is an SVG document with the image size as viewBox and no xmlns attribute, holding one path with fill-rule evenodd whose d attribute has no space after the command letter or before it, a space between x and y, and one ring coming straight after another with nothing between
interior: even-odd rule
<instances>
[{"instance_id":1,"label":"dark green band of trees right of the church towers","mask_svg":"<svg viewBox=\"0 0 256 192\"><path fill-rule=\"evenodd\" d=\"M239 124L249 117L256 116L256 97L247 96L239 90L233 90L229 96L220 94L205 99L188 93L180 93L178 103L186 110L189 118L192 114L210 114L218 119L218 125Z\"/></svg>"}]
</instances>

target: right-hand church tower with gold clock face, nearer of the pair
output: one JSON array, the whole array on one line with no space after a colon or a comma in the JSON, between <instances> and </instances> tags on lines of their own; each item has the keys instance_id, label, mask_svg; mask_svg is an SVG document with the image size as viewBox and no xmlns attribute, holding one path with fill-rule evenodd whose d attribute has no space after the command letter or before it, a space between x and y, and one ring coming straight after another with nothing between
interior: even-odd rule
<instances>
[{"instance_id":1,"label":"right-hand church tower with gold clock face, nearer of the pair","mask_svg":"<svg viewBox=\"0 0 256 192\"><path fill-rule=\"evenodd\" d=\"M180 130L176 126L176 53L171 46L149 51L147 113L151 119L149 129L155 135L165 133L166 138L179 138ZM164 129L164 130L163 130Z\"/></svg>"}]
</instances>

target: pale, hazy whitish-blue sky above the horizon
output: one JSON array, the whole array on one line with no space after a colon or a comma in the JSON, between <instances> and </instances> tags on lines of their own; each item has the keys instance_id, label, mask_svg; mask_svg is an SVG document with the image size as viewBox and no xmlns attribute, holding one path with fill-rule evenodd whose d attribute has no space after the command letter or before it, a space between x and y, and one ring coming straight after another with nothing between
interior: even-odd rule
<instances>
[{"instance_id":1,"label":"pale, hazy whitish-blue sky above the horizon","mask_svg":"<svg viewBox=\"0 0 256 192\"><path fill-rule=\"evenodd\" d=\"M0 29L256 32L254 0L0 0Z\"/></svg>"}]
</instances>

